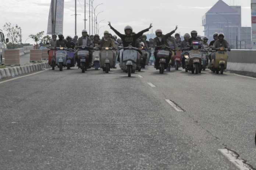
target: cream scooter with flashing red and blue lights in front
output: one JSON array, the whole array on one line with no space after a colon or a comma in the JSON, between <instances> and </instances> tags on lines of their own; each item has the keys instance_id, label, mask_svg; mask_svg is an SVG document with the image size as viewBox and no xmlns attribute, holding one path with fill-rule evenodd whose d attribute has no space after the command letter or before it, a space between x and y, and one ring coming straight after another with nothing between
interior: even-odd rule
<instances>
[{"instance_id":1,"label":"cream scooter with flashing red and blue lights in front","mask_svg":"<svg viewBox=\"0 0 256 170\"><path fill-rule=\"evenodd\" d=\"M191 47L193 49L189 51L189 58L185 59L185 71L191 71L192 74L198 74L201 73L202 70L202 52L200 51L199 41L192 41Z\"/></svg>"}]
</instances>

